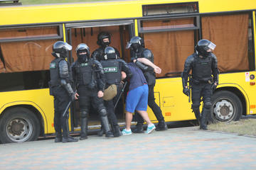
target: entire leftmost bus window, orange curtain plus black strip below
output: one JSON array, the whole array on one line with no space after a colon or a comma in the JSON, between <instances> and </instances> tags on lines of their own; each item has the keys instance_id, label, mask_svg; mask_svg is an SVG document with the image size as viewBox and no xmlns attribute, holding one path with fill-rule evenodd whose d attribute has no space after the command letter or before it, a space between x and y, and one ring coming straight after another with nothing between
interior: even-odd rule
<instances>
[{"instance_id":1,"label":"entire leftmost bus window, orange curtain plus black strip below","mask_svg":"<svg viewBox=\"0 0 256 170\"><path fill-rule=\"evenodd\" d=\"M0 30L0 91L48 88L53 43L58 26Z\"/></svg>"}]
</instances>

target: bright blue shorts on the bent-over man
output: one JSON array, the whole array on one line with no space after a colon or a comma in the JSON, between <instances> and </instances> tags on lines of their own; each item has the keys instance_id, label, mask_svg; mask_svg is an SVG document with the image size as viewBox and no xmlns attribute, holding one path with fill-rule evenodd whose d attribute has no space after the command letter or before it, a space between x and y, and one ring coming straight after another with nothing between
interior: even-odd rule
<instances>
[{"instance_id":1,"label":"bright blue shorts on the bent-over man","mask_svg":"<svg viewBox=\"0 0 256 170\"><path fill-rule=\"evenodd\" d=\"M146 111L149 96L149 87L147 84L132 89L127 94L125 110L130 113L134 111Z\"/></svg>"}]
</instances>

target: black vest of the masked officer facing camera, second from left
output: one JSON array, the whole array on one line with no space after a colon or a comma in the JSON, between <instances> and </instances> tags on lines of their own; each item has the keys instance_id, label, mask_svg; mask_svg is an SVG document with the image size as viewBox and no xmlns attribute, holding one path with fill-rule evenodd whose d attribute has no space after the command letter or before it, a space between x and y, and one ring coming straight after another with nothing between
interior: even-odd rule
<instances>
[{"instance_id":1,"label":"black vest of the masked officer facing camera, second from left","mask_svg":"<svg viewBox=\"0 0 256 170\"><path fill-rule=\"evenodd\" d=\"M78 84L88 85L92 80L92 64L91 62L75 64L75 78Z\"/></svg>"}]
</instances>

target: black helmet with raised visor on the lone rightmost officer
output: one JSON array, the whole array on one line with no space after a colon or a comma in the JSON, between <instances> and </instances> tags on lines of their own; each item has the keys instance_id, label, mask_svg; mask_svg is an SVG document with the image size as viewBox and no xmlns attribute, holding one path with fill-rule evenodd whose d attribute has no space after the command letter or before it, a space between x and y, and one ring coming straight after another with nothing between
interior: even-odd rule
<instances>
[{"instance_id":1,"label":"black helmet with raised visor on the lone rightmost officer","mask_svg":"<svg viewBox=\"0 0 256 170\"><path fill-rule=\"evenodd\" d=\"M215 47L216 45L213 44L213 42L210 42L209 40L199 40L196 45L196 54L202 55L203 57L208 57L210 55L210 52L212 52L215 49Z\"/></svg>"}]
</instances>

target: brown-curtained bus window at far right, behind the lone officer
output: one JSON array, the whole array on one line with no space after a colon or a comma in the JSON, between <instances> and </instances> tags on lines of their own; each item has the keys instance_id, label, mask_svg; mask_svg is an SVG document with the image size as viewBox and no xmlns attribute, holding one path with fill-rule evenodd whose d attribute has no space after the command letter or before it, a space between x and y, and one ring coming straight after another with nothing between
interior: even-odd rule
<instances>
[{"instance_id":1,"label":"brown-curtained bus window at far right, behind the lone officer","mask_svg":"<svg viewBox=\"0 0 256 170\"><path fill-rule=\"evenodd\" d=\"M249 13L202 17L202 35L217 45L214 53L218 57L220 72L255 68L249 65L254 63L252 52L250 54L253 48L252 43L249 43L252 35L249 21Z\"/></svg>"}]
</instances>

